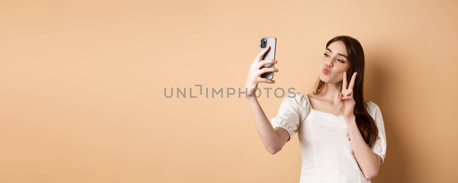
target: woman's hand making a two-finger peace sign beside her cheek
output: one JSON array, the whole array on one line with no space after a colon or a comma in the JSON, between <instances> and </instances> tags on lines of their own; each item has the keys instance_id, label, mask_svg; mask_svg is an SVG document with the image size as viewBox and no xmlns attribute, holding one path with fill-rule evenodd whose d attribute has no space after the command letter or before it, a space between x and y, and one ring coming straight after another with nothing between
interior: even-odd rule
<instances>
[{"instance_id":1,"label":"woman's hand making a two-finger peace sign beside her cheek","mask_svg":"<svg viewBox=\"0 0 458 183\"><path fill-rule=\"evenodd\" d=\"M356 104L353 99L353 85L354 79L356 78L356 72L353 73L351 77L350 84L347 88L347 72L344 72L344 80L342 81L342 92L339 93L339 98L337 101L337 106L345 119L354 118L353 108Z\"/></svg>"}]
</instances>

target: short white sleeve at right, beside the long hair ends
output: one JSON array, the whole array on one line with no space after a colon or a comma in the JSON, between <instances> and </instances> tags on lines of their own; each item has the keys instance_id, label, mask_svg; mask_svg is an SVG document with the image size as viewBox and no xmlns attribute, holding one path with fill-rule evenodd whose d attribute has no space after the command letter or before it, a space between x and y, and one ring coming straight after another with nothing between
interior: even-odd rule
<instances>
[{"instance_id":1,"label":"short white sleeve at right, beside the long hair ends","mask_svg":"<svg viewBox=\"0 0 458 183\"><path fill-rule=\"evenodd\" d=\"M378 105L371 101L366 101L366 105L367 110L369 111L372 119L374 119L378 129L377 140L371 149L375 154L382 157L382 162L380 163L382 164L387 153L387 136L385 134L385 125L383 123L382 111L380 111Z\"/></svg>"}]
</instances>

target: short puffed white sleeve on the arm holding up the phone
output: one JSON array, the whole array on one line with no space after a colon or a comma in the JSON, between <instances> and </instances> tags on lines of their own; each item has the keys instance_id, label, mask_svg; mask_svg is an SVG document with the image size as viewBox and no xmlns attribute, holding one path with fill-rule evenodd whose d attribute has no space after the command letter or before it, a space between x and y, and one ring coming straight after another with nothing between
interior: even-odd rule
<instances>
[{"instance_id":1,"label":"short puffed white sleeve on the arm holding up the phone","mask_svg":"<svg viewBox=\"0 0 458 183\"><path fill-rule=\"evenodd\" d=\"M306 99L305 94L298 92L288 95L280 104L277 116L271 119L274 129L280 127L288 131L288 141L296 134L300 123L305 119L306 115L304 114L309 112Z\"/></svg>"}]
</instances>

